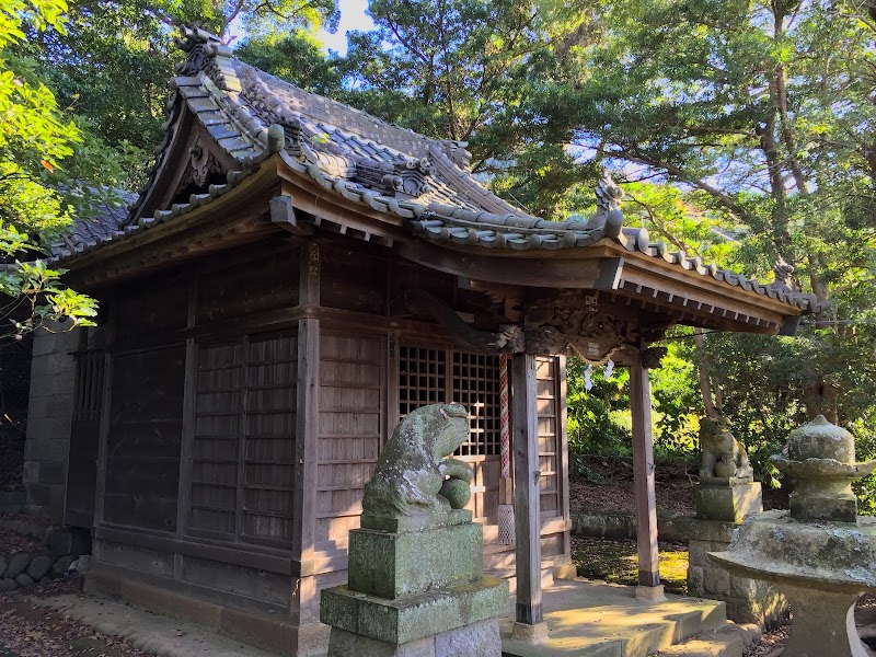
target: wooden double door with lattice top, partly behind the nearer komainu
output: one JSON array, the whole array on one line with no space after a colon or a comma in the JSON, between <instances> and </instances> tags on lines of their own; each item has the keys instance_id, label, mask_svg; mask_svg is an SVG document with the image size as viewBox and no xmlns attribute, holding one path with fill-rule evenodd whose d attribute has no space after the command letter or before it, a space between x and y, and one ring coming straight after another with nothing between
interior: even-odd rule
<instances>
[{"instance_id":1,"label":"wooden double door with lattice top, partly behind the nearer komainu","mask_svg":"<svg viewBox=\"0 0 876 657\"><path fill-rule=\"evenodd\" d=\"M448 347L401 345L399 348L399 415L448 401L469 410L469 440L457 458L474 470L468 508L484 527L484 540L497 538L499 477L499 357Z\"/></svg>"}]
</instances>

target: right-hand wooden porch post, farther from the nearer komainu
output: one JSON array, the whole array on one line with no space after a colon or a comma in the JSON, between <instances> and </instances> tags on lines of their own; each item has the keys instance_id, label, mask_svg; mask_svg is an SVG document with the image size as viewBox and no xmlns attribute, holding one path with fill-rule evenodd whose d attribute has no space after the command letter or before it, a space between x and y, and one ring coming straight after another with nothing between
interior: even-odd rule
<instances>
[{"instance_id":1,"label":"right-hand wooden porch post, farther from the nearer komainu","mask_svg":"<svg viewBox=\"0 0 876 657\"><path fill-rule=\"evenodd\" d=\"M657 552L657 504L654 493L654 436L650 427L650 381L641 362L630 368L630 407L633 414L633 475L636 493L638 589L636 597L662 598ZM648 589L652 590L646 590Z\"/></svg>"}]
</instances>

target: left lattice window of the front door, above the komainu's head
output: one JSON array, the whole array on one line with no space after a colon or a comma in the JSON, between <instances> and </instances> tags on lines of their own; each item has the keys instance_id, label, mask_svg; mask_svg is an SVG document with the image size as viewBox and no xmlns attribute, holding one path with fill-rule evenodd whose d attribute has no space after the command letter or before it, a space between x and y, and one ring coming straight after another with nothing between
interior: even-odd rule
<instances>
[{"instance_id":1,"label":"left lattice window of the front door, above the komainu's head","mask_svg":"<svg viewBox=\"0 0 876 657\"><path fill-rule=\"evenodd\" d=\"M447 351L430 347L399 348L399 415L447 399Z\"/></svg>"}]
</instances>

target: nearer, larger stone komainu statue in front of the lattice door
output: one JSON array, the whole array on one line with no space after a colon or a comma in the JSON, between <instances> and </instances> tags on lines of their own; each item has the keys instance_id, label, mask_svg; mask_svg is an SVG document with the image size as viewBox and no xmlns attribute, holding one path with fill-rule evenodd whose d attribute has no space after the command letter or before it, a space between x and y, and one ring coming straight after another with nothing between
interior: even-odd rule
<instances>
[{"instance_id":1,"label":"nearer, larger stone komainu statue in front of the lattice door","mask_svg":"<svg viewBox=\"0 0 876 657\"><path fill-rule=\"evenodd\" d=\"M433 404L408 414L395 427L365 485L362 511L402 517L464 507L472 469L448 457L468 439L469 413L460 404Z\"/></svg>"}]
</instances>

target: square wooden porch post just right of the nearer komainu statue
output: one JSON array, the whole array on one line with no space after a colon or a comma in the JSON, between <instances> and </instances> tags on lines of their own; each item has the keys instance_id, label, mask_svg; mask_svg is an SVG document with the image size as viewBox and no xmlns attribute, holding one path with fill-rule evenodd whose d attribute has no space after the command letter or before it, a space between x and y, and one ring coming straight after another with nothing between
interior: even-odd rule
<instances>
[{"instance_id":1,"label":"square wooden porch post just right of the nearer komainu statue","mask_svg":"<svg viewBox=\"0 0 876 657\"><path fill-rule=\"evenodd\" d=\"M517 607L514 637L528 643L546 638L541 609L541 520L539 489L539 417L535 356L511 359L511 422L517 538Z\"/></svg>"}]
</instances>

